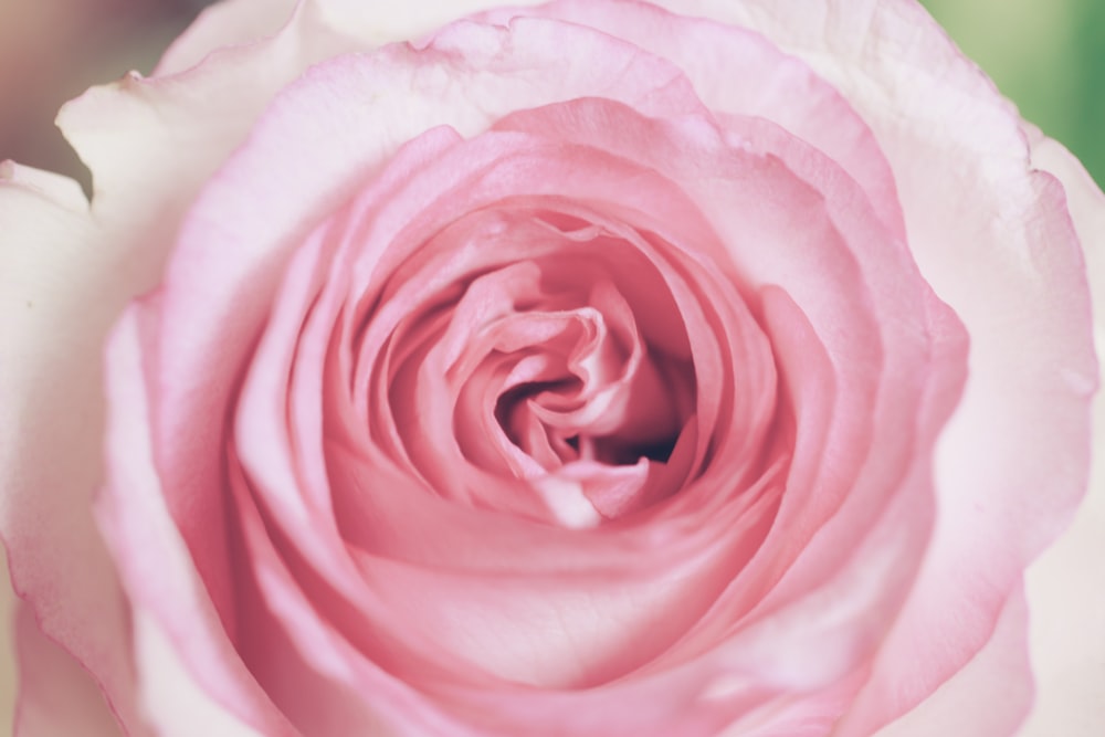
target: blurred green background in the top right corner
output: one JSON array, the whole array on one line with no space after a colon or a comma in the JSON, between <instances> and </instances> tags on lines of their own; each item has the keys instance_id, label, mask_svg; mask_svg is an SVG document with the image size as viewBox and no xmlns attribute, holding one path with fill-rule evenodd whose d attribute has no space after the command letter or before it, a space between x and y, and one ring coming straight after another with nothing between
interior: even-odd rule
<instances>
[{"instance_id":1,"label":"blurred green background in the top right corner","mask_svg":"<svg viewBox=\"0 0 1105 737\"><path fill-rule=\"evenodd\" d=\"M1105 0L922 0L1021 116L1105 185Z\"/></svg>"}]
</instances>

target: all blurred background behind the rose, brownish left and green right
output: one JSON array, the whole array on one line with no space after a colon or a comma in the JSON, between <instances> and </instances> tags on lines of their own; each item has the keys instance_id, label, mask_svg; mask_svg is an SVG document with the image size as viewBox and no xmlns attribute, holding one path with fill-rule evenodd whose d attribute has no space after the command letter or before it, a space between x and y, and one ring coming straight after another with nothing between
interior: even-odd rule
<instances>
[{"instance_id":1,"label":"all blurred background behind the rose, brownish left and green right","mask_svg":"<svg viewBox=\"0 0 1105 737\"><path fill-rule=\"evenodd\" d=\"M366 2L370 0L365 0ZM505 0L508 2L508 0ZM0 0L0 160L87 171L53 127L57 108L131 69L149 73L206 0ZM964 51L1105 183L1105 0L924 0ZM2 225L0 225L2 233ZM0 555L2 565L2 555ZM10 593L0 585L0 617ZM0 636L0 735L11 724Z\"/></svg>"}]
</instances>

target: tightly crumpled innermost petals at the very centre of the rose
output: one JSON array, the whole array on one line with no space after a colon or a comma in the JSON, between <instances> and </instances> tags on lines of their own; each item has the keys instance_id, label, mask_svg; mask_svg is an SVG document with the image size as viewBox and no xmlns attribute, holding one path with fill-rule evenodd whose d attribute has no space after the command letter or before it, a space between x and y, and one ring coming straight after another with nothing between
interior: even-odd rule
<instances>
[{"instance_id":1,"label":"tightly crumpled innermost petals at the very centre of the rose","mask_svg":"<svg viewBox=\"0 0 1105 737\"><path fill-rule=\"evenodd\" d=\"M575 499L558 516L589 525L663 496L659 472L691 413L693 380L665 370L607 275L570 288L547 276L523 262L470 285L454 317L470 339L454 366L477 368L455 424L471 460L527 480L554 510ZM473 325L470 301L484 322ZM473 425L470 413L481 412L491 421ZM494 453L478 436L488 425Z\"/></svg>"}]
</instances>

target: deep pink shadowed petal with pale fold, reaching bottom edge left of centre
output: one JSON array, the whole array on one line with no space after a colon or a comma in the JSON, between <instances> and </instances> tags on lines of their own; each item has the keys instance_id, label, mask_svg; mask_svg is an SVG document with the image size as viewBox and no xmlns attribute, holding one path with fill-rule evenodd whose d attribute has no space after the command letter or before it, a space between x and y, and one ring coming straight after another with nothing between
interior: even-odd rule
<instances>
[{"instance_id":1,"label":"deep pink shadowed petal with pale fold, reaching bottom edge left of centre","mask_svg":"<svg viewBox=\"0 0 1105 737\"><path fill-rule=\"evenodd\" d=\"M236 463L233 455L230 461ZM470 737L466 729L443 717L381 667L387 659L377 662L368 656L387 652L386 638L364 625L340 631L343 620L378 610L375 594L355 591L350 602L343 591L349 589L348 578L330 587L317 576L306 575L302 558L286 539L274 539L266 528L253 499L255 492L244 476L232 471L230 484L249 568L240 579L239 601L240 615L252 627L243 633L240 652L265 693L301 733L371 729L382 737L419 729ZM350 611L356 614L350 617ZM409 657L401 665L417 668L421 662ZM368 699L365 694L378 698Z\"/></svg>"}]
</instances>

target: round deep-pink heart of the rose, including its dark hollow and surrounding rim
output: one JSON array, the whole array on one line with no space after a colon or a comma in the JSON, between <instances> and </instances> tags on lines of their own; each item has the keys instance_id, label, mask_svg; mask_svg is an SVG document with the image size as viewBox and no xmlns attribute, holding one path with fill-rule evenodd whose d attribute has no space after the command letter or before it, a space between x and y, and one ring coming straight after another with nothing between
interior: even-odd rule
<instances>
[{"instance_id":1,"label":"round deep-pink heart of the rose, including its dark hollow and surrounding rim","mask_svg":"<svg viewBox=\"0 0 1105 737\"><path fill-rule=\"evenodd\" d=\"M390 392L407 452L433 486L453 488L438 468L455 443L463 462L520 482L539 516L570 527L675 493L695 453L681 439L696 389L662 256L548 211L473 213L425 245L423 269L446 246L442 265L456 278L400 330L421 347L402 351L411 360ZM442 417L451 438L432 442L431 430L427 443L409 430ZM446 493L498 506L478 491Z\"/></svg>"}]
</instances>

